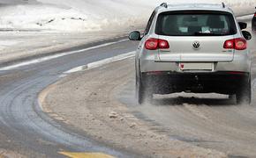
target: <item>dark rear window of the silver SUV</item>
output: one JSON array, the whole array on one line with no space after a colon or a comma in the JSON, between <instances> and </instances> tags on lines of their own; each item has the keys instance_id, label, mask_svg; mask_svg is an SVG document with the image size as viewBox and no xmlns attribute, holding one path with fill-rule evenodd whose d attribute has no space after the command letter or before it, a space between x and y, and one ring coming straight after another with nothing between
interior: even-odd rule
<instances>
[{"instance_id":1,"label":"dark rear window of the silver SUV","mask_svg":"<svg viewBox=\"0 0 256 158\"><path fill-rule=\"evenodd\" d=\"M225 36L237 33L232 14L222 11L169 11L159 14L156 34Z\"/></svg>"}]
</instances>

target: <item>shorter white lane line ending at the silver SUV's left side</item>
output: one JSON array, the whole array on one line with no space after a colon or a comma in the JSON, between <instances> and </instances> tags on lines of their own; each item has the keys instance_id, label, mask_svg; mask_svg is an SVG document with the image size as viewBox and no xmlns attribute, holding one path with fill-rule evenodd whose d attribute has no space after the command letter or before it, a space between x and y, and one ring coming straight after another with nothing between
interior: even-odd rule
<instances>
[{"instance_id":1,"label":"shorter white lane line ending at the silver SUV's left side","mask_svg":"<svg viewBox=\"0 0 256 158\"><path fill-rule=\"evenodd\" d=\"M119 54L117 56L113 56L107 59L104 59L102 61L95 61L95 62L91 62L88 63L87 65L82 65L76 68L72 68L68 71L65 71L64 74L71 74L74 72L79 72L79 71L83 71L85 69L90 69L90 68L98 68L101 67L102 65L108 64L110 62L114 62L114 61L121 61L127 58L131 58L135 55L135 51L129 52L127 54Z\"/></svg>"}]
</instances>

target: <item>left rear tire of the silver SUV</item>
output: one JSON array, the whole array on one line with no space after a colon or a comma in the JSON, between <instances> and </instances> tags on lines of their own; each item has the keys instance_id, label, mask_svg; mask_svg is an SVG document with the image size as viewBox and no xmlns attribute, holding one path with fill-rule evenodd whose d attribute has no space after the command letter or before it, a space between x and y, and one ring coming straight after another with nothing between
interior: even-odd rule
<instances>
[{"instance_id":1,"label":"left rear tire of the silver SUV","mask_svg":"<svg viewBox=\"0 0 256 158\"><path fill-rule=\"evenodd\" d=\"M147 83L143 83L140 77L136 77L136 97L139 104L144 104L146 101L151 103L153 100L152 90L146 85Z\"/></svg>"}]
</instances>

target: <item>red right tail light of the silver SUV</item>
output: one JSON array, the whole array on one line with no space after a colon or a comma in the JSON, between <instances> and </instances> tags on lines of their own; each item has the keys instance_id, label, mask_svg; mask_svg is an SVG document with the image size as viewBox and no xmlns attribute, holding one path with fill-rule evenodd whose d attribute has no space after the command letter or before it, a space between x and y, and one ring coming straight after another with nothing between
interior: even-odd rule
<instances>
[{"instance_id":1,"label":"red right tail light of the silver SUV","mask_svg":"<svg viewBox=\"0 0 256 158\"><path fill-rule=\"evenodd\" d=\"M245 50L247 48L247 42L243 38L226 40L223 46L225 49Z\"/></svg>"}]
</instances>

